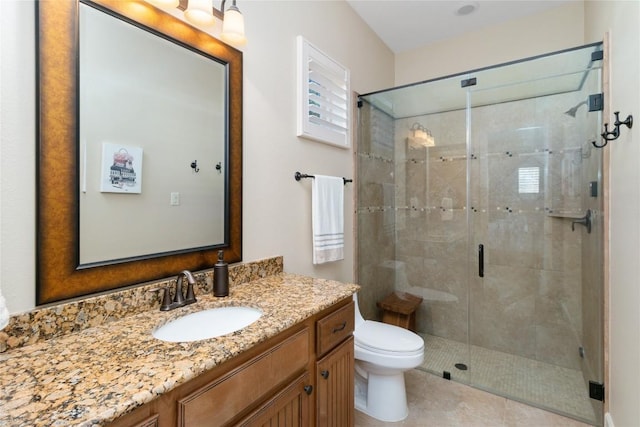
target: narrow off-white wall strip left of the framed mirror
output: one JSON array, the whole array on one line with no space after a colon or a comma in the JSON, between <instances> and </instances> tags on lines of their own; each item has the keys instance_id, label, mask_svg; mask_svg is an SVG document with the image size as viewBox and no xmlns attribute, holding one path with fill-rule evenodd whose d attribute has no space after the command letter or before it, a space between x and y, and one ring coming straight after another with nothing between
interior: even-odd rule
<instances>
[{"instance_id":1,"label":"narrow off-white wall strip left of the framed mirror","mask_svg":"<svg viewBox=\"0 0 640 427\"><path fill-rule=\"evenodd\" d=\"M10 312L35 302L33 3L0 1L0 286Z\"/></svg>"}]
</instances>

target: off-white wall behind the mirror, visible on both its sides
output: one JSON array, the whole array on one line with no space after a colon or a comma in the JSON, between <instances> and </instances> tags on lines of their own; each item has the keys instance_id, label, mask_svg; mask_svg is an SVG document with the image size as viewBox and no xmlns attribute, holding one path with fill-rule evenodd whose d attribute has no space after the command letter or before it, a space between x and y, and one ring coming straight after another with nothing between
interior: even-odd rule
<instances>
[{"instance_id":1,"label":"off-white wall behind the mirror, visible on both its sides","mask_svg":"<svg viewBox=\"0 0 640 427\"><path fill-rule=\"evenodd\" d=\"M393 54L343 1L245 1L243 259L283 255L288 272L353 280L352 185L343 261L313 266L311 182L295 171L353 177L351 150L296 137L296 36L351 70L352 89L393 85ZM0 1L0 284L9 310L35 301L34 6ZM327 23L331 22L331 30ZM362 54L366 52L366 54Z\"/></svg>"}]
</instances>

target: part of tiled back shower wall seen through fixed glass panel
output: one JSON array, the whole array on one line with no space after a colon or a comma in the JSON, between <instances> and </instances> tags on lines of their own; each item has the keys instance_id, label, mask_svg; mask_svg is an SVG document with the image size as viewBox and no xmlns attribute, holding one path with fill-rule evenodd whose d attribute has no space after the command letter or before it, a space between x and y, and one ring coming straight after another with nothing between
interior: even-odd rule
<instances>
[{"instance_id":1,"label":"part of tiled back shower wall seen through fixed glass panel","mask_svg":"<svg viewBox=\"0 0 640 427\"><path fill-rule=\"evenodd\" d=\"M411 146L407 130L415 122L438 135L436 147ZM461 342L468 338L464 124L464 111L396 123L396 288L424 298L419 331Z\"/></svg>"}]
</instances>

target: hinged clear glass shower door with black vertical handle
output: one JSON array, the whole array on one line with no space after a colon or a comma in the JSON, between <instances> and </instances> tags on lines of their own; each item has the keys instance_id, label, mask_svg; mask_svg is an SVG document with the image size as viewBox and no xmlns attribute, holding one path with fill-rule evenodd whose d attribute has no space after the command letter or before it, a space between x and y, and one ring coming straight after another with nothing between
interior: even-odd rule
<instances>
[{"instance_id":1,"label":"hinged clear glass shower door with black vertical handle","mask_svg":"<svg viewBox=\"0 0 640 427\"><path fill-rule=\"evenodd\" d=\"M602 91L599 49L483 70L467 88L468 381L594 424L604 258L602 150L591 143L601 112L589 97Z\"/></svg>"}]
</instances>

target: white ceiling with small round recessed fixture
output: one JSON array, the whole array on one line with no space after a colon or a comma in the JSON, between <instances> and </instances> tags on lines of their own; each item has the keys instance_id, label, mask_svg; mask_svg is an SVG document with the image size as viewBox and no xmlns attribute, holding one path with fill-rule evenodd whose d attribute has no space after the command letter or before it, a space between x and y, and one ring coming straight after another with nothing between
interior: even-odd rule
<instances>
[{"instance_id":1,"label":"white ceiling with small round recessed fixture","mask_svg":"<svg viewBox=\"0 0 640 427\"><path fill-rule=\"evenodd\" d=\"M395 53L580 0L347 0ZM460 16L459 8L476 9ZM542 30L542 29L541 29Z\"/></svg>"}]
</instances>

